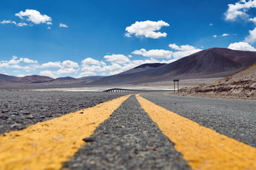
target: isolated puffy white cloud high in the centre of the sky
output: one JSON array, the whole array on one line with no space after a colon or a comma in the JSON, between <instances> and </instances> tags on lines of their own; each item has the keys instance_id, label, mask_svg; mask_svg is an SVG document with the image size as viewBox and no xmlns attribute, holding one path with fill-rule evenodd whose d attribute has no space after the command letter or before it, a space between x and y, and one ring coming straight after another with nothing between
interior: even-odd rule
<instances>
[{"instance_id":1,"label":"isolated puffy white cloud high in the centre of the sky","mask_svg":"<svg viewBox=\"0 0 256 170\"><path fill-rule=\"evenodd\" d=\"M161 27L170 26L167 22L163 20L159 21L136 21L129 27L125 28L125 36L131 37L131 34L135 34L135 36L145 36L146 38L159 38L159 37L166 37L166 32L156 32L161 29Z\"/></svg>"}]
</instances>

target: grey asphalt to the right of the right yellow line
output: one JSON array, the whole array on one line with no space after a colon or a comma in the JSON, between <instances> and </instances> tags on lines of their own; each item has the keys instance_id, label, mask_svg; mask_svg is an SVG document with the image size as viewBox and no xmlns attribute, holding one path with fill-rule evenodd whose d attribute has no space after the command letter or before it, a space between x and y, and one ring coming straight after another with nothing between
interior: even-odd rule
<instances>
[{"instance_id":1,"label":"grey asphalt to the right of the right yellow line","mask_svg":"<svg viewBox=\"0 0 256 170\"><path fill-rule=\"evenodd\" d=\"M152 103L237 141L256 146L256 102L207 97L141 94Z\"/></svg>"}]
</instances>

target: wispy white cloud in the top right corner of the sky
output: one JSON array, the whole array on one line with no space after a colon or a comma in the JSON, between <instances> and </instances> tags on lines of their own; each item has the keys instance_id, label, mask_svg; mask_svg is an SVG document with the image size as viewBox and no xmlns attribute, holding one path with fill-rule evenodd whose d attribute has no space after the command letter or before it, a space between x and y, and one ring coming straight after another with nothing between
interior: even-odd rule
<instances>
[{"instance_id":1,"label":"wispy white cloud in the top right corner of the sky","mask_svg":"<svg viewBox=\"0 0 256 170\"><path fill-rule=\"evenodd\" d=\"M234 21L236 18L247 18L246 13L250 8L256 8L256 0L239 0L235 4L228 4L228 10L225 12L225 20Z\"/></svg>"}]
</instances>

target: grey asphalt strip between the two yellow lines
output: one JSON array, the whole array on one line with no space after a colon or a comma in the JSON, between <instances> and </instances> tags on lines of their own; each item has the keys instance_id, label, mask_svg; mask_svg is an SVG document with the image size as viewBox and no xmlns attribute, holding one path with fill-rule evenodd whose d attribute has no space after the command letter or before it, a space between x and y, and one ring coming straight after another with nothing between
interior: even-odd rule
<instances>
[{"instance_id":1,"label":"grey asphalt strip between the two yellow lines","mask_svg":"<svg viewBox=\"0 0 256 170\"><path fill-rule=\"evenodd\" d=\"M190 169L174 144L129 97L63 169Z\"/></svg>"}]
</instances>

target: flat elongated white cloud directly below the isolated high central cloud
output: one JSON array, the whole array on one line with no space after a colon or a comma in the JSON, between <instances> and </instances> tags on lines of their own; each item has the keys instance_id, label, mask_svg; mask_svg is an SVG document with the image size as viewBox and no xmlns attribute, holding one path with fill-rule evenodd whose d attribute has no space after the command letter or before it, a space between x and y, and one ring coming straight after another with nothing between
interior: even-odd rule
<instances>
[{"instance_id":1,"label":"flat elongated white cloud directly below the isolated high central cloud","mask_svg":"<svg viewBox=\"0 0 256 170\"><path fill-rule=\"evenodd\" d=\"M143 55L144 57L152 57L152 58L159 58L159 59L169 59L172 56L172 52L169 50L145 50L141 48L140 50L135 50L132 52L136 55Z\"/></svg>"}]
</instances>

